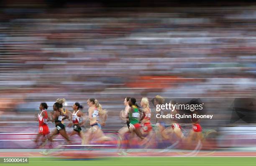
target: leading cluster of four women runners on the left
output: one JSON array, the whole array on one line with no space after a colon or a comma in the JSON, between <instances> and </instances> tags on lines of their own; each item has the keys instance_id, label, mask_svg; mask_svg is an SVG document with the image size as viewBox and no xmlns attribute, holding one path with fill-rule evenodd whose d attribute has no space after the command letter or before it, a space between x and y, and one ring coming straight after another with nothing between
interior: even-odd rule
<instances>
[{"instance_id":1,"label":"leading cluster of four women runners on the left","mask_svg":"<svg viewBox=\"0 0 256 166\"><path fill-rule=\"evenodd\" d=\"M81 111L83 106L78 102L73 104L73 112L70 112L67 108L64 108L64 106L67 106L66 100L64 98L57 99L53 105L53 111L50 113L50 116L48 116L47 104L41 103L39 106L41 113L38 114L39 131L35 139L37 146L42 146L46 142L46 139L50 142L51 146L53 137L57 134L63 136L69 144L71 144L70 136L74 134L78 134L82 139L82 144L89 143L93 137L107 141L108 137L106 137L101 130L101 126L105 125L107 112L102 109L102 106L96 98L88 99L87 105L89 106L88 115ZM68 124L69 127L73 126L73 131L70 134L67 134L66 126L64 125L65 119L70 121ZM85 137L81 126L84 125L87 119L90 121L91 128L87 131L88 136ZM51 134L47 124L49 121L54 122L56 127ZM43 141L38 143L41 137L43 137Z\"/></svg>"}]
</instances>

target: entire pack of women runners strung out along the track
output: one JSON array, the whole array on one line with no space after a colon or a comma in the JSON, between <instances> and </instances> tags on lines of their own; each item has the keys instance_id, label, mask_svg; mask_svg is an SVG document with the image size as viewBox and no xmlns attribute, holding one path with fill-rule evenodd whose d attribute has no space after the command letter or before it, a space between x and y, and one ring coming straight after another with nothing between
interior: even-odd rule
<instances>
[{"instance_id":1,"label":"entire pack of women runners strung out along the track","mask_svg":"<svg viewBox=\"0 0 256 166\"><path fill-rule=\"evenodd\" d=\"M157 104L164 104L164 98L161 96L155 96L154 106ZM175 102L175 101L170 101ZM49 140L50 145L53 142L53 137L57 134L63 136L67 143L71 144L70 137L74 134L82 139L82 144L88 144L92 139L96 138L97 141L110 141L110 138L105 136L101 130L101 126L105 126L105 121L107 120L107 111L102 109L102 106L95 98L90 98L87 100L87 105L89 106L88 115L83 113L81 110L83 108L78 102L74 103L72 108L73 112L70 112L65 106L66 100L64 98L57 99L56 103L53 105L53 110L50 113L50 116L47 114L47 104L41 103L39 109L41 113L38 114L39 121L39 132L35 139L35 142L38 142L40 137L43 137L43 143L46 142L46 139ZM149 108L148 98L143 97L141 99L140 106L136 102L136 98L126 97L124 100L125 109L120 111L120 118L126 121L126 125L121 128L118 133L120 138L123 140L125 133L131 133L130 138L137 136L144 141L152 138L154 135L152 132L153 127L157 128L157 132L161 135L164 140L171 140L172 136L175 135L180 141L190 142L193 139L200 141L202 134L202 127L199 124L199 119L192 119L193 128L189 132L188 136L184 136L182 132L182 127L178 123L178 119L173 119L170 127L166 128L164 119L156 118L155 125L151 123L151 109ZM178 110L171 111L172 114L178 113ZM164 111L160 111L160 114L164 114ZM67 133L66 127L63 123L65 119L68 119L70 123L68 127L73 126L73 131ZM87 130L86 137L82 131L81 126L85 122L90 121L90 128ZM49 131L47 123L51 121L55 123L56 128L54 131ZM131 140L131 139L129 139ZM38 144L41 146L42 144Z\"/></svg>"}]
</instances>

